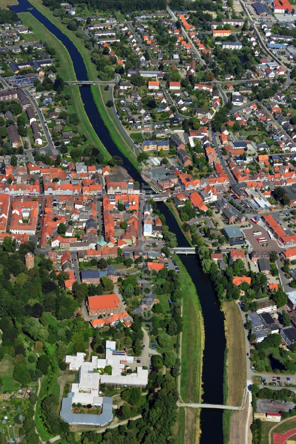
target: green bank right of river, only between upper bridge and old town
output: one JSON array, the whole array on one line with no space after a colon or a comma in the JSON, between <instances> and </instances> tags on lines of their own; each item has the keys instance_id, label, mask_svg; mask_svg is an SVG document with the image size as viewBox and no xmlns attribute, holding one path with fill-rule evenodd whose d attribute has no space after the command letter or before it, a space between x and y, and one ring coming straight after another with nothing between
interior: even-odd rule
<instances>
[{"instance_id":1,"label":"green bank right of river, only between upper bridge and old town","mask_svg":"<svg viewBox=\"0 0 296 444\"><path fill-rule=\"evenodd\" d=\"M99 113L108 128L111 138L122 154L130 160L130 163L140 172L142 169L139 166L137 155L133 147L128 143L126 137L122 133L122 130L115 120L114 112L112 108L106 107L106 103L109 100L109 90L105 91L105 85L92 85L91 92L95 100L95 104L99 110Z\"/></svg>"}]
</instances>

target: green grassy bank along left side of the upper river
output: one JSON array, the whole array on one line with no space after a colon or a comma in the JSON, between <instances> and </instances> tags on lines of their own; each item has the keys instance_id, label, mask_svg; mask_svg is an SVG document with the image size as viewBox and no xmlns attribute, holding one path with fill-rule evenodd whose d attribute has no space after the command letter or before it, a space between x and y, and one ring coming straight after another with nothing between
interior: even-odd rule
<instances>
[{"instance_id":1,"label":"green grassy bank along left side of the upper river","mask_svg":"<svg viewBox=\"0 0 296 444\"><path fill-rule=\"evenodd\" d=\"M43 26L43 24L41 24L29 12L21 12L19 13L19 16L25 26L32 26L33 32L36 36L36 40L46 41L49 46L55 48L56 56L61 60L61 67L58 69L59 75L61 75L64 80L75 80L76 76L71 57L62 42L57 39L50 31L48 31L48 29L45 28L45 26ZM107 149L100 141L87 117L81 100L79 87L67 86L65 87L65 92L67 92L71 96L71 106L69 107L69 112L77 112L77 114L79 115L79 133L85 134L87 136L88 142L95 147L98 147L99 150L103 153L106 160L110 159L110 155Z\"/></svg>"}]
</instances>

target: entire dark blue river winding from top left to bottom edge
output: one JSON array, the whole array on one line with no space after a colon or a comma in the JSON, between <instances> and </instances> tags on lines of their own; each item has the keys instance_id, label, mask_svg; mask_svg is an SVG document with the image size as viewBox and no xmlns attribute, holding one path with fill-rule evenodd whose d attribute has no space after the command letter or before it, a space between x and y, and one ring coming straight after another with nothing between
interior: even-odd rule
<instances>
[{"instance_id":1,"label":"entire dark blue river winding from top left to bottom edge","mask_svg":"<svg viewBox=\"0 0 296 444\"><path fill-rule=\"evenodd\" d=\"M40 23L42 23L52 34L54 34L67 48L76 74L77 80L87 80L87 70L83 58L71 40L63 34L36 8L32 7L27 0L19 0L19 4L11 7L15 12L30 12ZM111 155L120 155L123 158L123 166L130 175L142 183L142 178L129 160L122 156L117 146L111 139L107 127L99 115L95 101L91 93L91 87L80 87L84 109L95 129L99 139ZM182 230L179 228L174 216L164 203L159 203L158 208L166 217L166 223L177 235L179 246L189 246ZM205 324L205 350L203 355L202 371L202 399L206 403L223 404L223 360L225 350L224 316L219 309L217 298L213 292L213 286L209 277L205 275L197 257L193 255L182 255L182 262L188 271L201 302L202 313ZM222 412L220 410L201 409L201 438L200 443L209 442L222 443Z\"/></svg>"}]
</instances>

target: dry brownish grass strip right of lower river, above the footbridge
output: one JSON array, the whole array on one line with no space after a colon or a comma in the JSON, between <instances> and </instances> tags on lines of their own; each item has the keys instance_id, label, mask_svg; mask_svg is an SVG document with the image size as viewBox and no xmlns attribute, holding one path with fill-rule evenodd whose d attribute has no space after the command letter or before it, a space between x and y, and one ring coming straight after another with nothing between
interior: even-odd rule
<instances>
[{"instance_id":1,"label":"dry brownish grass strip right of lower river, above the footbridge","mask_svg":"<svg viewBox=\"0 0 296 444\"><path fill-rule=\"evenodd\" d=\"M229 373L229 405L241 405L243 392L247 379L245 365L245 333L241 320L241 314L234 301L224 302L226 319L226 338L229 349L228 373Z\"/></svg>"}]
</instances>

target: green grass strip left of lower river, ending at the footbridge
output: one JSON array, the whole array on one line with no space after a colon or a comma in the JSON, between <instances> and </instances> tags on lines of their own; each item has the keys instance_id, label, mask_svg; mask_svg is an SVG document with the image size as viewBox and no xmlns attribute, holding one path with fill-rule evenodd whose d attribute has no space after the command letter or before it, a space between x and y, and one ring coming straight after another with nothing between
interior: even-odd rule
<instances>
[{"instance_id":1,"label":"green grass strip left of lower river, ending at the footbridge","mask_svg":"<svg viewBox=\"0 0 296 444\"><path fill-rule=\"evenodd\" d=\"M183 299L183 332L181 360L181 396L187 402L201 400L201 369L204 348L204 330L201 305L196 288L177 255L174 260L180 268Z\"/></svg>"}]
</instances>

